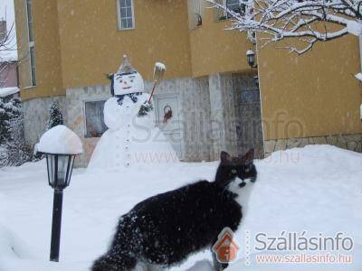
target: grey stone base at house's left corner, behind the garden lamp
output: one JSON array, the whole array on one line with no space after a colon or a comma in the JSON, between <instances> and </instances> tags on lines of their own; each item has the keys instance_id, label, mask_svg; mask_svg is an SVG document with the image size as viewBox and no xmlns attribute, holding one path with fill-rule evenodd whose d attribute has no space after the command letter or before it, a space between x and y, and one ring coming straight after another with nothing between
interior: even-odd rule
<instances>
[{"instance_id":1,"label":"grey stone base at house's left corner, behind the garden lamp","mask_svg":"<svg viewBox=\"0 0 362 271\"><path fill-rule=\"evenodd\" d=\"M51 107L53 101L58 102L64 122L66 123L67 108L65 96L56 96L52 98L33 98L24 100L22 103L24 113L25 141L31 147L39 142L40 137L46 130L46 126L49 121L49 107Z\"/></svg>"}]
</instances>

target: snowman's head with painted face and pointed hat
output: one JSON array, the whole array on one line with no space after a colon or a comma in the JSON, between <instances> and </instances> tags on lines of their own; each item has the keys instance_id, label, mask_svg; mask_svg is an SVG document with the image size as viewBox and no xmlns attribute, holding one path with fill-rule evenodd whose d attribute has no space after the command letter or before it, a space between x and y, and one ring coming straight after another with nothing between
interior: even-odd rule
<instances>
[{"instance_id":1,"label":"snowman's head with painted face and pointed hat","mask_svg":"<svg viewBox=\"0 0 362 271\"><path fill-rule=\"evenodd\" d=\"M143 92L145 89L142 76L130 65L126 55L123 56L123 63L119 67L119 71L113 74L111 79L113 96Z\"/></svg>"}]
</instances>

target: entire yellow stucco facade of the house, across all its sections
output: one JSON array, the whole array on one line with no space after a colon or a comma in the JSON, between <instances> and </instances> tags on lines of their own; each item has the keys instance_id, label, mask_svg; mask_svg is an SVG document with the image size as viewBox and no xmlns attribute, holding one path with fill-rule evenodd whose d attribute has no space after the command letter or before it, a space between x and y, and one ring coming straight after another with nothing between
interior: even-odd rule
<instances>
[{"instance_id":1,"label":"entire yellow stucco facade of the house, across all its sections","mask_svg":"<svg viewBox=\"0 0 362 271\"><path fill-rule=\"evenodd\" d=\"M64 95L65 88L107 84L124 53L152 79L155 61L167 64L166 78L250 71L244 33L228 32L203 10L203 25L188 29L186 0L134 0L134 30L119 31L117 0L33 0L38 86L30 82L24 0L14 0L22 98ZM258 51L262 118L266 140L362 132L362 90L357 38L319 43L297 56L271 44ZM24 60L22 60L24 58Z\"/></svg>"}]
</instances>

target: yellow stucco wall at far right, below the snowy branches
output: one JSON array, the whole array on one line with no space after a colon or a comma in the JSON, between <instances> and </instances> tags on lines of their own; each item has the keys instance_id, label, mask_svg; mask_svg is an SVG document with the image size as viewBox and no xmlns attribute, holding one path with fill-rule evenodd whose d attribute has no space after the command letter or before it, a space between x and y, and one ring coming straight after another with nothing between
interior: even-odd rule
<instances>
[{"instance_id":1,"label":"yellow stucco wall at far right, below the snowy branches","mask_svg":"<svg viewBox=\"0 0 362 271\"><path fill-rule=\"evenodd\" d=\"M282 46L259 49L264 138L361 133L357 37L318 43L301 56Z\"/></svg>"}]
</instances>

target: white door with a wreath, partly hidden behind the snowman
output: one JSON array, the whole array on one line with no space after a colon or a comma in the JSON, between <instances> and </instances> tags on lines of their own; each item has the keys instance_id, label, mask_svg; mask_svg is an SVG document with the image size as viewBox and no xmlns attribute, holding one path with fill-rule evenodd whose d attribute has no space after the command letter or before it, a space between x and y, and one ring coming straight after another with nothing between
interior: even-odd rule
<instances>
[{"instance_id":1,"label":"white door with a wreath, partly hidden behind the snowman","mask_svg":"<svg viewBox=\"0 0 362 271\"><path fill-rule=\"evenodd\" d=\"M178 95L157 95L154 100L157 124L173 146L178 158L182 159L182 131Z\"/></svg>"}]
</instances>

